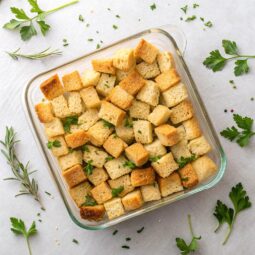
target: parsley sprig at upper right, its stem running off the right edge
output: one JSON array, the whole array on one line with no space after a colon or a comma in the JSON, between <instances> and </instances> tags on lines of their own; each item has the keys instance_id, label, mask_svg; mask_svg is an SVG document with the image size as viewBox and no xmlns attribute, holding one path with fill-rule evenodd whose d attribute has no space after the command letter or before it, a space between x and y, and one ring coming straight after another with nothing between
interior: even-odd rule
<instances>
[{"instance_id":1,"label":"parsley sprig at upper right, its stem running off the right edge","mask_svg":"<svg viewBox=\"0 0 255 255\"><path fill-rule=\"evenodd\" d=\"M227 55L231 57L223 57L219 50L210 52L203 64L213 70L213 72L221 71L228 61L235 61L234 74L240 76L249 72L248 59L255 58L255 55L242 55L239 53L236 42L230 40L222 40L222 47Z\"/></svg>"}]
</instances>

